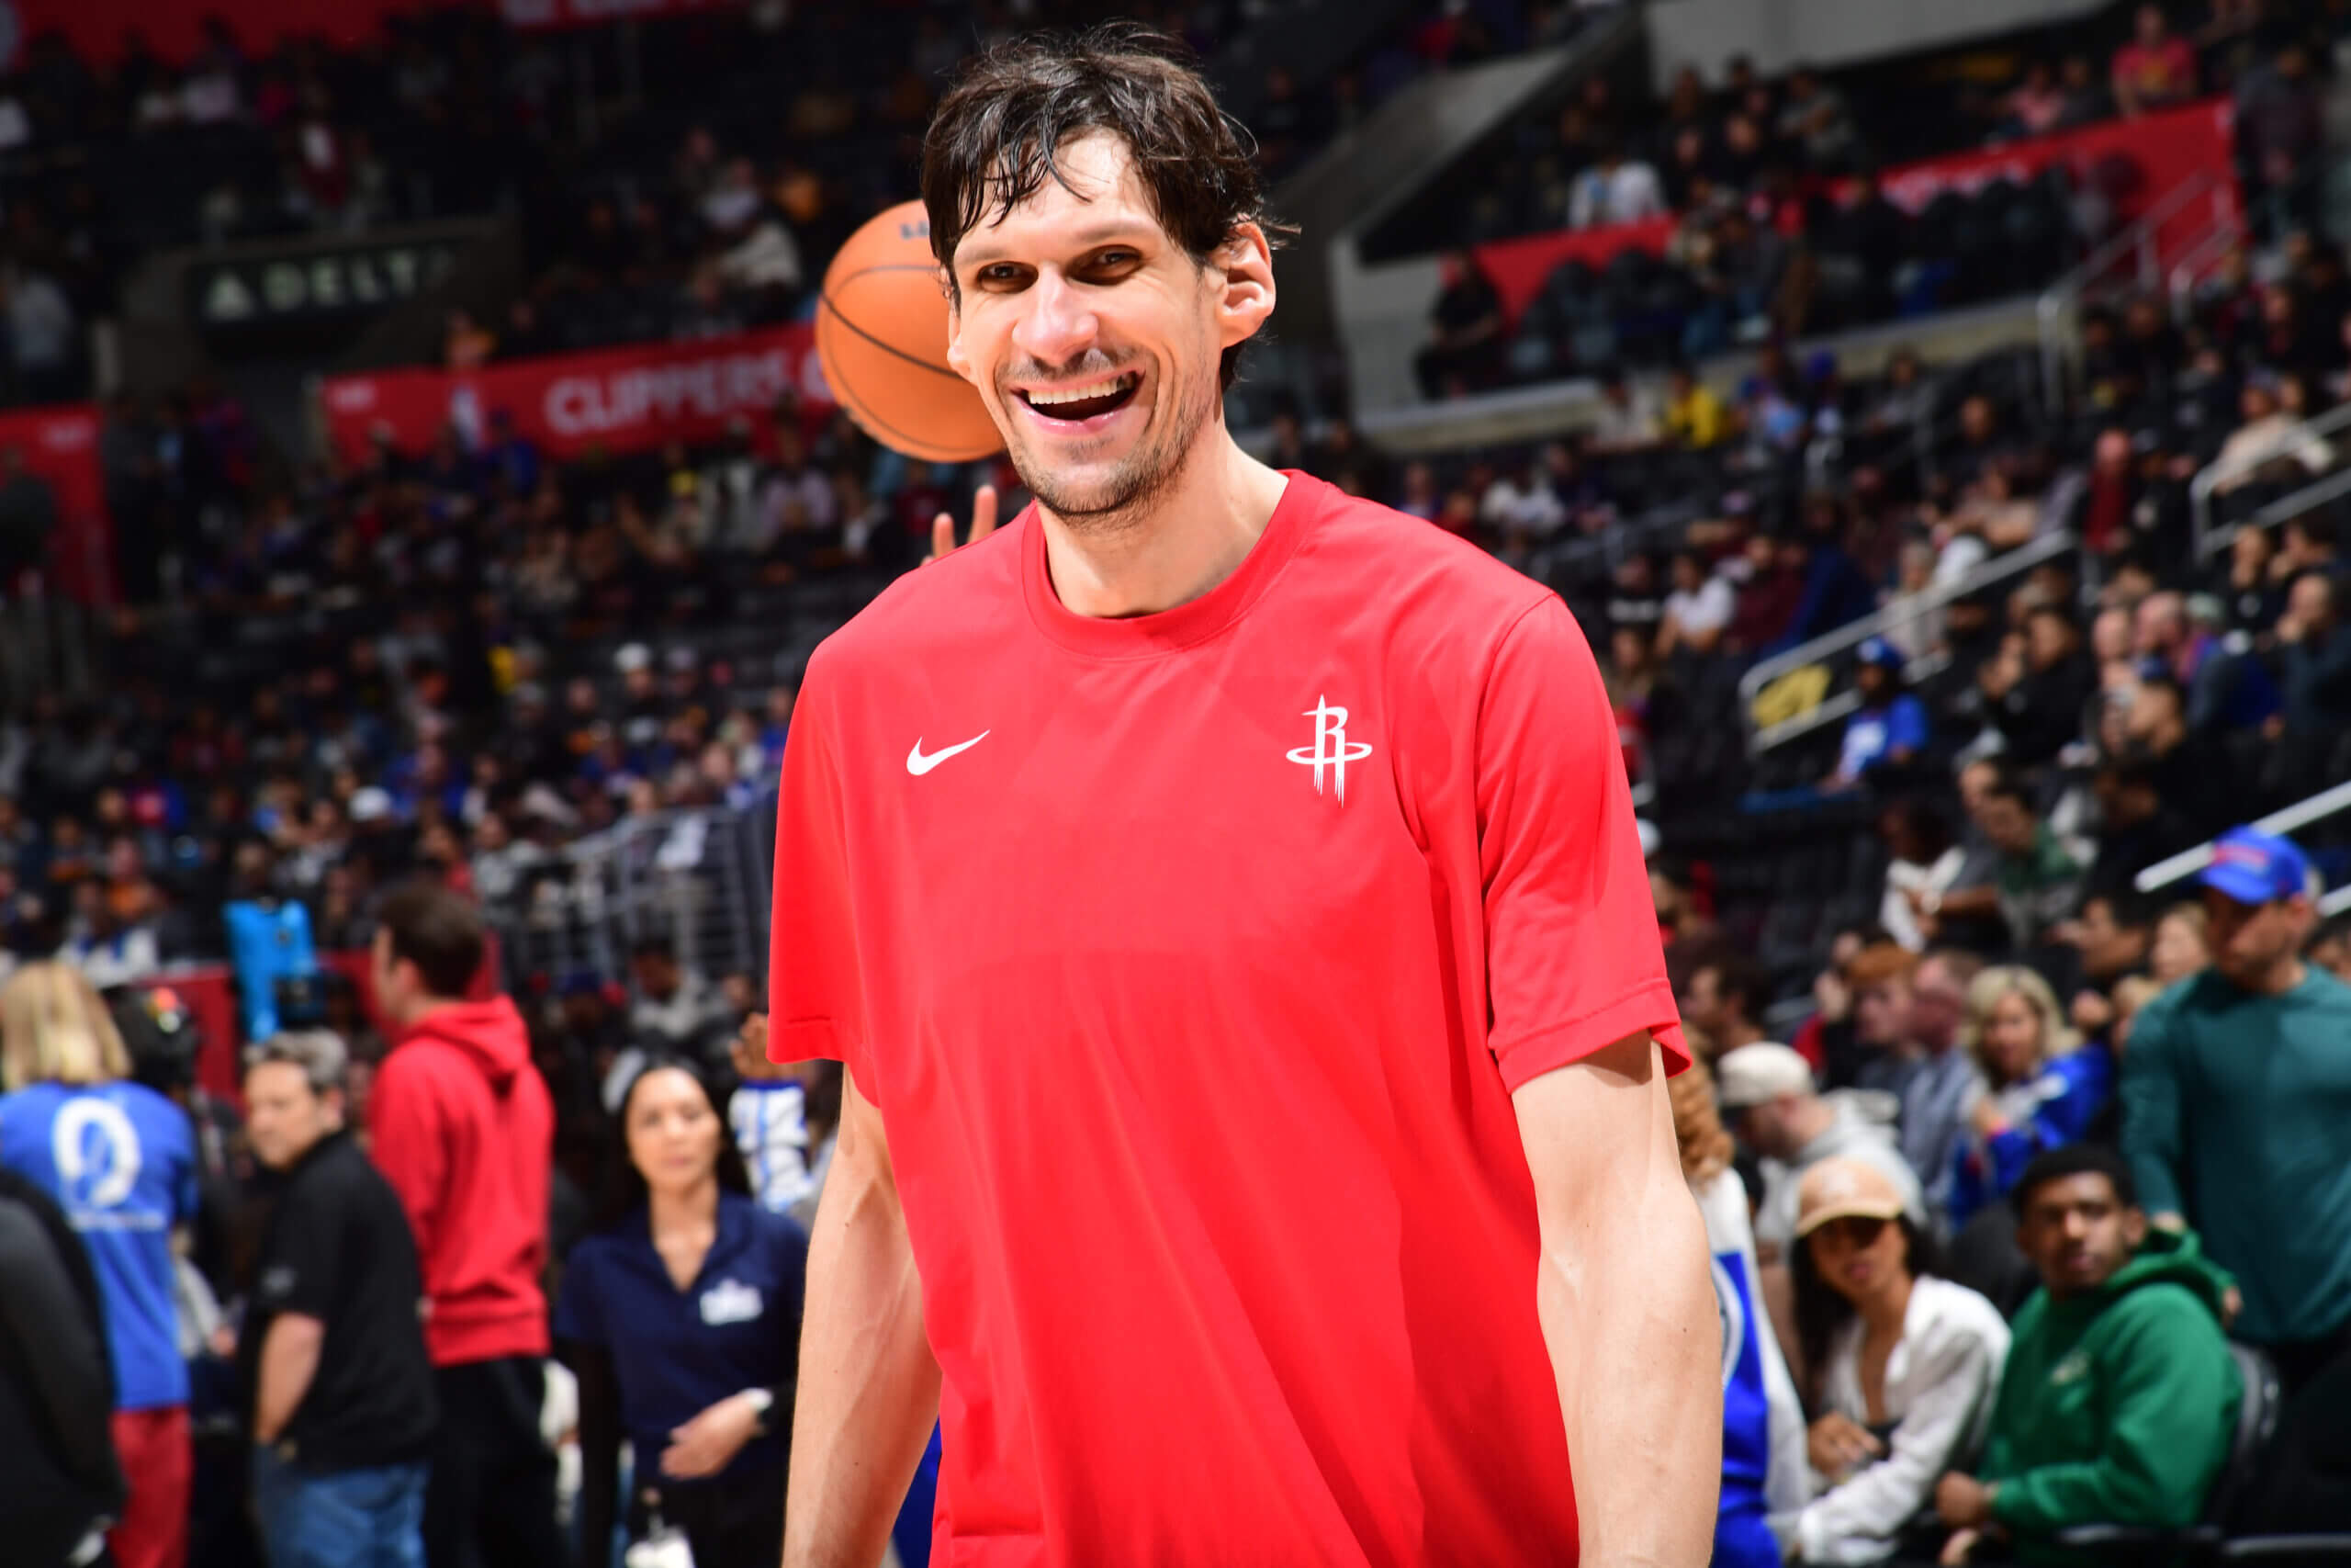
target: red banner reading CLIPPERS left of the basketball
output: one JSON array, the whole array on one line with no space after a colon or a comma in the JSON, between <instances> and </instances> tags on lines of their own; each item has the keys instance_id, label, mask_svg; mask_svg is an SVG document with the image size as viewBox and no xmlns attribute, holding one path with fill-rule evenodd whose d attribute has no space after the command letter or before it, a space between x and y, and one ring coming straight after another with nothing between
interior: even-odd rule
<instances>
[{"instance_id":1,"label":"red banner reading CLIPPERS left of the basketball","mask_svg":"<svg viewBox=\"0 0 2351 1568\"><path fill-rule=\"evenodd\" d=\"M762 418L785 393L830 404L804 322L694 343L635 343L588 355L515 360L480 371L393 369L320 388L327 437L348 458L376 440L423 451L449 425L475 444L508 414L550 456L708 442L736 418Z\"/></svg>"}]
</instances>

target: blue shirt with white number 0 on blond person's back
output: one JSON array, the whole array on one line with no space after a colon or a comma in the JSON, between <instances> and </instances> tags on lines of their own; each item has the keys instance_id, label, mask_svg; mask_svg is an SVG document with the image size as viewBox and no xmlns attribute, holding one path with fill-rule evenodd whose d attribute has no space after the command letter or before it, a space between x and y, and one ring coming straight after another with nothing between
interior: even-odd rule
<instances>
[{"instance_id":1,"label":"blue shirt with white number 0 on blond person's back","mask_svg":"<svg viewBox=\"0 0 2351 1568\"><path fill-rule=\"evenodd\" d=\"M106 1298L115 1408L188 1403L172 1227L195 1218L188 1112L143 1084L33 1084L0 1095L0 1164L56 1199Z\"/></svg>"}]
</instances>

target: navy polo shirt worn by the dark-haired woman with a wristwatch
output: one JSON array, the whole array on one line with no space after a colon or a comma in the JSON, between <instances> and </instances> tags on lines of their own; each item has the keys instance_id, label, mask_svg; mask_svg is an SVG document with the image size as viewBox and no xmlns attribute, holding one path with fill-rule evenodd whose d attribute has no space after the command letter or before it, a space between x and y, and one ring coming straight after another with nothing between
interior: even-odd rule
<instances>
[{"instance_id":1,"label":"navy polo shirt worn by the dark-haired woman with a wristwatch","mask_svg":"<svg viewBox=\"0 0 2351 1568\"><path fill-rule=\"evenodd\" d=\"M644 1479L656 1476L675 1427L729 1394L788 1380L806 1267L799 1225L734 1192L719 1194L717 1237L684 1291L654 1251L644 1208L571 1248L555 1338L611 1354L621 1429ZM783 1465L785 1432L790 1413L776 1408L766 1436L743 1443L722 1476Z\"/></svg>"}]
</instances>

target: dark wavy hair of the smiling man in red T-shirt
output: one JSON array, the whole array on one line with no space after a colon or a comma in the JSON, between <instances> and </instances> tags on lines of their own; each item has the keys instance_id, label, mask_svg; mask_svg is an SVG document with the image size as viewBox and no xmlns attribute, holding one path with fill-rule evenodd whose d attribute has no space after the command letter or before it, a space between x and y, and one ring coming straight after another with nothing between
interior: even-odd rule
<instances>
[{"instance_id":1,"label":"dark wavy hair of the smiling man in red T-shirt","mask_svg":"<svg viewBox=\"0 0 2351 1568\"><path fill-rule=\"evenodd\" d=\"M1128 21L1037 33L973 56L922 139L922 205L950 292L962 237L1049 179L1067 186L1056 158L1089 132L1128 146L1152 214L1194 266L1241 223L1258 223L1267 244L1288 233L1265 212L1255 139L1218 108L1180 42ZM1225 350L1223 386L1239 357L1241 343Z\"/></svg>"}]
</instances>

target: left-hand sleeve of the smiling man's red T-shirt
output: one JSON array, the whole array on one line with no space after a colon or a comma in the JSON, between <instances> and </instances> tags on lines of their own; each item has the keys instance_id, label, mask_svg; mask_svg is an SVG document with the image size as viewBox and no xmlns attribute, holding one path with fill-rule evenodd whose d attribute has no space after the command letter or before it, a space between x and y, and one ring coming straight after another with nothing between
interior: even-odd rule
<instances>
[{"instance_id":1,"label":"left-hand sleeve of the smiling man's red T-shirt","mask_svg":"<svg viewBox=\"0 0 2351 1568\"><path fill-rule=\"evenodd\" d=\"M811 684L813 679L811 665ZM766 973L769 1060L837 1060L849 1067L858 1093L879 1105L882 1086L865 1041L849 813L820 691L802 701L783 743Z\"/></svg>"}]
</instances>

